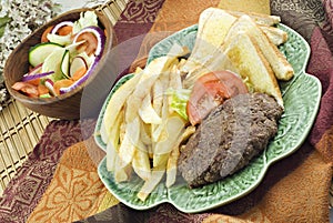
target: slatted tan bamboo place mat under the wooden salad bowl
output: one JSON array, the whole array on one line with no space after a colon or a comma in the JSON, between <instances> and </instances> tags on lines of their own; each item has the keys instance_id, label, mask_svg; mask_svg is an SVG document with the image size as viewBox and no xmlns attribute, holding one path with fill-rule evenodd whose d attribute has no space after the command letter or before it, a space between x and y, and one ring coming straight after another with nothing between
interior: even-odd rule
<instances>
[{"instance_id":1,"label":"slatted tan bamboo place mat under the wooden salad bowl","mask_svg":"<svg viewBox=\"0 0 333 223\"><path fill-rule=\"evenodd\" d=\"M88 1L89 4L85 6L94 2L97 1ZM95 8L108 16L114 24L127 2L128 0L111 0ZM0 196L51 120L26 109L14 99L10 99L4 104L3 110L0 111Z\"/></svg>"}]
</instances>

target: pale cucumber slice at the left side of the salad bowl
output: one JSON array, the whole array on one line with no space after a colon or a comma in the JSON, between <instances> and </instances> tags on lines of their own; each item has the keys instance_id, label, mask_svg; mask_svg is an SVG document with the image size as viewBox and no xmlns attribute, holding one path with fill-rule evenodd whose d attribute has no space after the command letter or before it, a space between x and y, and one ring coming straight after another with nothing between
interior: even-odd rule
<instances>
[{"instance_id":1,"label":"pale cucumber slice at the left side of the salad bowl","mask_svg":"<svg viewBox=\"0 0 333 223\"><path fill-rule=\"evenodd\" d=\"M40 63L43 63L44 60L54 51L58 49L61 49L62 47L60 44L53 43L53 42L43 42L39 43L34 47L32 47L29 50L29 63L32 67L36 67Z\"/></svg>"}]
</instances>

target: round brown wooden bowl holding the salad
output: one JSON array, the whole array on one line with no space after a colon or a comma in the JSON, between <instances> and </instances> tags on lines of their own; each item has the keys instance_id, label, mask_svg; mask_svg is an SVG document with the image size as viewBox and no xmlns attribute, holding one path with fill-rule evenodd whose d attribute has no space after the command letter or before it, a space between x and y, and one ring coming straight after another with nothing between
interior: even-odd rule
<instances>
[{"instance_id":1,"label":"round brown wooden bowl holding the salad","mask_svg":"<svg viewBox=\"0 0 333 223\"><path fill-rule=\"evenodd\" d=\"M99 19L100 27L105 30L105 36L107 36L105 45L103 49L101 60L98 62L93 73L91 73L89 79L83 84L79 85L78 88L73 89L70 92L67 92L59 97L52 97L52 98L29 98L20 93L19 91L13 90L11 87L17 81L20 81L22 75L28 72L29 49L36 45L37 43L40 43L40 39L43 31L48 27L57 24L61 21L75 21L80 18L80 13L87 10L93 10L93 9L89 9L89 8L75 9L56 17L44 26L33 31L11 52L3 69L3 79L9 93L17 101L22 103L24 107L29 108L30 110L37 113L50 118L58 118L58 119L65 119L65 120L80 119L82 91L84 88L88 88L90 85L98 85L98 84L93 84L97 77L99 77L101 73L108 72L107 69L110 68L108 68L108 65L105 67L105 63L108 63L107 61L108 61L108 57L110 57L110 51L112 47L115 44L115 37L112 29L112 23L107 18L107 16L104 16L102 12L95 11ZM97 100L93 97L91 97L91 99L89 100L91 100L89 102L89 107L91 108L91 111L90 108L84 110L84 116L88 118L90 115L95 115L95 113L99 112L103 103L103 99Z\"/></svg>"}]
</instances>

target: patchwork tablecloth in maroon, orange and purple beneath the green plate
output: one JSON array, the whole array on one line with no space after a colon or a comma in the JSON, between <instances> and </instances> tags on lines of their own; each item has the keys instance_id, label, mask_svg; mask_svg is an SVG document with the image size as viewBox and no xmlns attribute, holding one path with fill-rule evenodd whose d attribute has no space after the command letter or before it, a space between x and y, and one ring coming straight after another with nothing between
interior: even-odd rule
<instances>
[{"instance_id":1,"label":"patchwork tablecloth in maroon, orange and purple beneath the green plate","mask_svg":"<svg viewBox=\"0 0 333 223\"><path fill-rule=\"evenodd\" d=\"M149 31L180 30L195 23L201 9L218 3L218 0L131 0L114 31L122 43L137 36L144 37ZM98 182L95 166L85 162L84 159L91 155L88 155L91 145L89 141L81 142L82 123L56 121L48 126L27 163L4 191L0 200L0 222L27 222L28 219L29 222L52 222L56 216L59 217L56 222L84 217L79 222L329 222L327 192L333 161L333 2L273 0L271 11L281 16L283 23L300 32L310 43L312 54L306 71L321 80L323 97L306 142L294 154L272 165L254 191L206 213L185 214L171 204L144 212L129 209L118 204ZM144 59L153 42L142 40L139 60ZM94 122L90 122L84 126L91 126L92 131ZM82 159L84 164L80 162ZM74 178L75 174L81 175ZM74 190L73 183L80 186ZM91 190L87 191L87 187ZM94 191L99 193L92 193ZM67 197L70 195L74 200ZM63 209L54 205L57 202ZM74 205L79 211L72 210Z\"/></svg>"}]
</instances>

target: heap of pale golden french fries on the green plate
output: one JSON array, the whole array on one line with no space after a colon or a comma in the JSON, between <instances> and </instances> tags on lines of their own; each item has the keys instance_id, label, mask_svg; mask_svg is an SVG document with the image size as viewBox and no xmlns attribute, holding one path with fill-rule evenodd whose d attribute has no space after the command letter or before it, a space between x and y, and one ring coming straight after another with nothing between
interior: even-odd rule
<instances>
[{"instance_id":1,"label":"heap of pale golden french fries on the green plate","mask_svg":"<svg viewBox=\"0 0 333 223\"><path fill-rule=\"evenodd\" d=\"M172 116L168 120L169 105L165 94L170 81L173 81L172 84L176 88L180 85L179 73L172 80L170 78L171 72L176 70L178 57L181 53L186 51L180 45L174 45L168 55L151 61L144 70L137 70L139 74L124 83L110 99L102 121L102 139L108 142L108 170L113 172L115 182L128 181L132 171L144 180L138 193L142 201L165 173L172 144L176 140L175 135L171 134L174 129L170 128L176 128L176 136L181 135L179 129L184 130L183 121L180 123ZM152 169L151 159L155 160Z\"/></svg>"}]
</instances>

